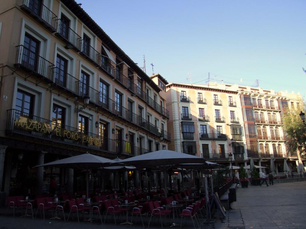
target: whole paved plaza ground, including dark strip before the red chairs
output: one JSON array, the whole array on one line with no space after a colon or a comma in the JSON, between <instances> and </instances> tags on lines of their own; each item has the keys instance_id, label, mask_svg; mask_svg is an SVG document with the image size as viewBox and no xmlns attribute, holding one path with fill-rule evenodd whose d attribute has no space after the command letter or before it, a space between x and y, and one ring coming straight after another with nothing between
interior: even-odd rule
<instances>
[{"instance_id":1,"label":"whole paved plaza ground, including dark strip before the red chairs","mask_svg":"<svg viewBox=\"0 0 306 229\"><path fill-rule=\"evenodd\" d=\"M215 214L216 229L306 229L306 181L266 185L249 186L248 188L237 188L237 202L231 204L234 210L228 211L225 219L220 219ZM13 218L4 216L5 209L0 211L0 229L14 228L47 228L47 229L97 229L97 228L142 228L140 222L129 227L128 225L117 225L107 223L101 225L97 222L70 221L65 223L60 220L32 220L30 217ZM147 227L147 218L144 223ZM134 220L133 220L134 221ZM180 220L178 220L180 222ZM204 228L203 223L200 227ZM161 228L156 223L150 228ZM169 228L168 226L164 228ZM179 228L179 227L176 227ZM191 222L183 227L184 229L194 228ZM207 226L206 228L212 228Z\"/></svg>"}]
</instances>

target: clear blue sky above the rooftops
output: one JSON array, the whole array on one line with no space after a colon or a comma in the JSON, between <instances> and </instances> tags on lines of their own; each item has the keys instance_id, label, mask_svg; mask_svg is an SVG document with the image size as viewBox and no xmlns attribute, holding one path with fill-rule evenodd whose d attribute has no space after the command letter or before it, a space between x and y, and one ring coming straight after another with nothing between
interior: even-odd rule
<instances>
[{"instance_id":1,"label":"clear blue sky above the rooftops","mask_svg":"<svg viewBox=\"0 0 306 229\"><path fill-rule=\"evenodd\" d=\"M147 75L306 95L304 0L77 2Z\"/></svg>"}]
</instances>

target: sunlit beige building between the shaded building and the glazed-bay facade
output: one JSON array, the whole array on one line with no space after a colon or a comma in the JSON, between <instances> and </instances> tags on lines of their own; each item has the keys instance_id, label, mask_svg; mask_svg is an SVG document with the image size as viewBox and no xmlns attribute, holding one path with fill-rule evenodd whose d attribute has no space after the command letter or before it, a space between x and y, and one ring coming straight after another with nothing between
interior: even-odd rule
<instances>
[{"instance_id":1,"label":"sunlit beige building between the shaded building and the glazed-bay facade","mask_svg":"<svg viewBox=\"0 0 306 229\"><path fill-rule=\"evenodd\" d=\"M166 86L170 150L229 165L247 160L241 104L237 91L213 86Z\"/></svg>"}]
</instances>

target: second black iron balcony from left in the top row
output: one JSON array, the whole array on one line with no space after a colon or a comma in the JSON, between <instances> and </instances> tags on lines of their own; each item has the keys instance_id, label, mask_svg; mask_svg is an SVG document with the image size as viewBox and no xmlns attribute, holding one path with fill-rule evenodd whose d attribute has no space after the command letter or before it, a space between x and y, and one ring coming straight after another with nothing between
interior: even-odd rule
<instances>
[{"instance_id":1,"label":"second black iron balcony from left in the top row","mask_svg":"<svg viewBox=\"0 0 306 229\"><path fill-rule=\"evenodd\" d=\"M68 27L61 19L57 21L57 32L56 36L61 38L67 45L65 48L74 49L76 52L81 52L82 49L82 38L77 35L73 29Z\"/></svg>"}]
</instances>

